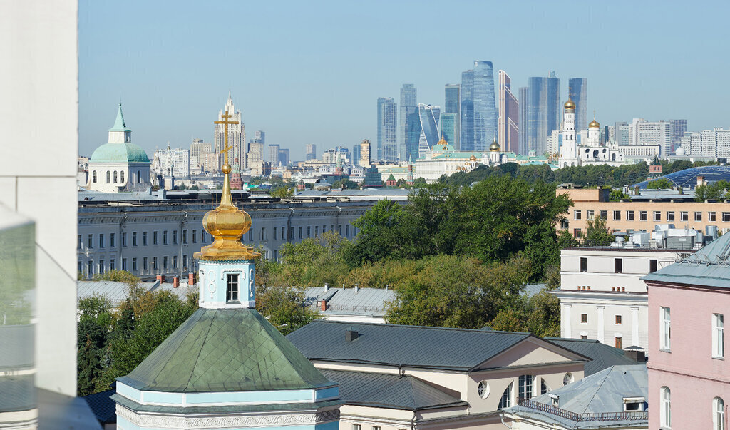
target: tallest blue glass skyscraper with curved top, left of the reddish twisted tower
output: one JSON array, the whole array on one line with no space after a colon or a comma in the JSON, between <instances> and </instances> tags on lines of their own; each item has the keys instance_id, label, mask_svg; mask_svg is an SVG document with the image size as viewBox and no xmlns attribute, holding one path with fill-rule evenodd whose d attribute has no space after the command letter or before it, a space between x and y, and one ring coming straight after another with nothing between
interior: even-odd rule
<instances>
[{"instance_id":1,"label":"tallest blue glass skyscraper with curved top, left of the reddish twisted tower","mask_svg":"<svg viewBox=\"0 0 730 430\"><path fill-rule=\"evenodd\" d=\"M487 150L497 137L494 72L491 61L474 62L474 150Z\"/></svg>"}]
</instances>

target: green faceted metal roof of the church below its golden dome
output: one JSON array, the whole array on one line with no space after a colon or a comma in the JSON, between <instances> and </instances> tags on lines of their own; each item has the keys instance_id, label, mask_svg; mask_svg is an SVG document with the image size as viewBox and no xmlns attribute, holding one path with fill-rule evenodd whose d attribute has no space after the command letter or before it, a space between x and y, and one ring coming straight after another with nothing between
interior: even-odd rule
<instances>
[{"instance_id":1,"label":"green faceted metal roof of the church below its golden dome","mask_svg":"<svg viewBox=\"0 0 730 430\"><path fill-rule=\"evenodd\" d=\"M255 310L199 309L121 383L167 392L301 390L334 385Z\"/></svg>"}]
</instances>

